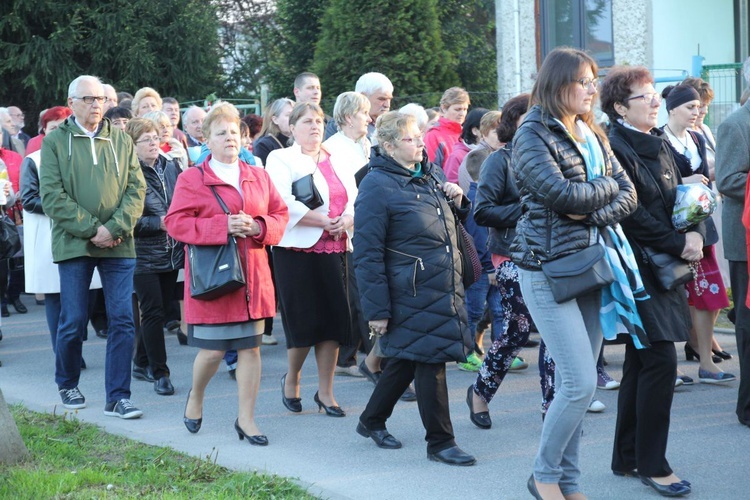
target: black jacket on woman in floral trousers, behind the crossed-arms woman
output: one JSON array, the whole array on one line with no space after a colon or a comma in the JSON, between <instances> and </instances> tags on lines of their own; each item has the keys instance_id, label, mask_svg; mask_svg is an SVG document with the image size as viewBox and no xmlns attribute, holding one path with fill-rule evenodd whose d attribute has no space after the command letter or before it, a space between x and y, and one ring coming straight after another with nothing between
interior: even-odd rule
<instances>
[{"instance_id":1,"label":"black jacket on woman in floral trousers, behind the crossed-arms woman","mask_svg":"<svg viewBox=\"0 0 750 500\"><path fill-rule=\"evenodd\" d=\"M490 228L487 246L490 252L510 255L521 218L521 195L510 166L511 145L492 153L482 164L474 204L474 220Z\"/></svg>"}]
</instances>

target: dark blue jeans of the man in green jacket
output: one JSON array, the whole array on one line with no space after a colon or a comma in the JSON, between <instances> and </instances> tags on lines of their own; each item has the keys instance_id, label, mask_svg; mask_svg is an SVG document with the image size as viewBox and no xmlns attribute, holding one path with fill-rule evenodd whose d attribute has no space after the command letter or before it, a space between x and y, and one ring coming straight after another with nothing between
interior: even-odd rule
<instances>
[{"instance_id":1,"label":"dark blue jeans of the man in green jacket","mask_svg":"<svg viewBox=\"0 0 750 500\"><path fill-rule=\"evenodd\" d=\"M89 284L99 271L107 307L107 354L104 386L107 402L130 398L130 359L133 355L133 271L135 259L78 257L60 262L60 323L55 349L55 382L59 389L78 386L83 335L89 320Z\"/></svg>"}]
</instances>

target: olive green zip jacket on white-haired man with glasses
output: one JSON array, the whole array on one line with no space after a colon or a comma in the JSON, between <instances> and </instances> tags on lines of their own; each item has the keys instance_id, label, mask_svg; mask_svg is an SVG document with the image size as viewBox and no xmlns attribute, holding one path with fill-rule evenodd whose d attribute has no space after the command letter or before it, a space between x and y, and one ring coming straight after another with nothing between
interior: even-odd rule
<instances>
[{"instance_id":1,"label":"olive green zip jacket on white-haired man with glasses","mask_svg":"<svg viewBox=\"0 0 750 500\"><path fill-rule=\"evenodd\" d=\"M94 138L71 116L42 141L39 187L44 213L52 219L52 258L135 258L133 228L143 213L146 181L133 141L102 120ZM89 240L104 225L114 248Z\"/></svg>"}]
</instances>

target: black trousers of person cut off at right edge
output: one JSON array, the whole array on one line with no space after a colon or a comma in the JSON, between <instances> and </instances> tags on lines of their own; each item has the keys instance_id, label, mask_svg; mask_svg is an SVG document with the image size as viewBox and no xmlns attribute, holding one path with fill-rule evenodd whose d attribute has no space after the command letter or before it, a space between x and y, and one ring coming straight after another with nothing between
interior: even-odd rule
<instances>
[{"instance_id":1,"label":"black trousers of person cut off at right edge","mask_svg":"<svg viewBox=\"0 0 750 500\"><path fill-rule=\"evenodd\" d=\"M734 334L737 337L737 357L740 361L740 385L737 389L737 419L750 427L750 309L747 297L747 261L729 261L729 281L737 317Z\"/></svg>"}]
</instances>

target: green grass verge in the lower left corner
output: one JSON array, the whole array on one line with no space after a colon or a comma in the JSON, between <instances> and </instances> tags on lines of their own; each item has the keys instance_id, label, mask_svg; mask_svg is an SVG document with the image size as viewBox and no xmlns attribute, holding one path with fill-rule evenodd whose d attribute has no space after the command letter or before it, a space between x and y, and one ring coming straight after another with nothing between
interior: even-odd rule
<instances>
[{"instance_id":1,"label":"green grass verge in the lower left corner","mask_svg":"<svg viewBox=\"0 0 750 500\"><path fill-rule=\"evenodd\" d=\"M289 479L234 472L216 455L195 458L103 432L74 414L11 407L31 453L0 465L0 498L315 498Z\"/></svg>"}]
</instances>

